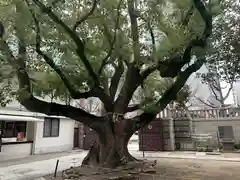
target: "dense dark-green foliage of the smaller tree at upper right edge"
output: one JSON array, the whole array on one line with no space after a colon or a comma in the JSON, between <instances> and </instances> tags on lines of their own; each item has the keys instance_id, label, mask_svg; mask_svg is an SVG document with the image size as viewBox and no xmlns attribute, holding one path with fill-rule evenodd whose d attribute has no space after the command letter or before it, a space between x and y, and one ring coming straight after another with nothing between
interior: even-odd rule
<instances>
[{"instance_id":1,"label":"dense dark-green foliage of the smaller tree at upper right edge","mask_svg":"<svg viewBox=\"0 0 240 180\"><path fill-rule=\"evenodd\" d=\"M240 4L227 0L221 6L224 11L214 20L208 62L221 81L232 83L240 77Z\"/></svg>"}]
</instances>

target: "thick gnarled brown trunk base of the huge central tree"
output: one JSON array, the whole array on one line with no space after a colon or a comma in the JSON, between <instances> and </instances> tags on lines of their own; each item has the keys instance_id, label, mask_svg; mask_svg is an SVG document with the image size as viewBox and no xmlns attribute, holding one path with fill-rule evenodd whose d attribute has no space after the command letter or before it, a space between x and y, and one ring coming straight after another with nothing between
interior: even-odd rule
<instances>
[{"instance_id":1,"label":"thick gnarled brown trunk base of the huge central tree","mask_svg":"<svg viewBox=\"0 0 240 180\"><path fill-rule=\"evenodd\" d=\"M130 120L121 120L112 125L103 124L99 140L91 146L82 164L90 166L116 167L136 159L129 153L127 145L135 132Z\"/></svg>"}]
</instances>

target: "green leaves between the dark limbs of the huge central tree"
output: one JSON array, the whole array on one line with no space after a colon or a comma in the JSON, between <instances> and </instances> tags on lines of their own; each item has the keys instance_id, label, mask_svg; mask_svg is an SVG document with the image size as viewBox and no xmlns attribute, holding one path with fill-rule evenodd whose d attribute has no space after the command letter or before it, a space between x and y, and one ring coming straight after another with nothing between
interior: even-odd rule
<instances>
[{"instance_id":1,"label":"green leaves between the dark limbs of the huge central tree","mask_svg":"<svg viewBox=\"0 0 240 180\"><path fill-rule=\"evenodd\" d=\"M0 19L6 28L5 39L13 51L18 54L17 38L22 38L27 46L27 69L31 76L32 90L37 96L50 96L51 98L64 99L69 92L57 75L35 52L35 24L31 10L40 21L40 35L42 39L41 50L50 56L54 63L66 74L75 89L89 90L93 80L79 57L76 54L76 45L63 28L54 23L46 14L42 13L33 1L30 7L26 1L3 0L0 2ZM52 1L41 1L51 7ZM217 12L216 3L212 1L212 11ZM141 55L146 57L152 53L149 46L148 22L155 33L157 42L158 59L172 57L183 52L187 43L193 37L202 34L204 23L200 14L193 12L187 26L182 22L192 6L191 0L161 0L146 1L139 4L139 36ZM120 7L120 13L118 13ZM213 8L214 7L214 8ZM60 17L69 27L91 8L89 1L60 1L53 8L53 12ZM84 41L86 57L93 67L94 72L100 77L101 86L106 84L108 78L113 76L112 69L119 59L129 63L132 60L132 39L129 28L129 17L126 14L127 2L118 0L100 1L94 13L77 28L77 34ZM119 17L118 17L119 15ZM144 18L142 18L144 17ZM117 24L119 22L119 24ZM117 28L116 28L117 27ZM18 31L16 31L16 28ZM19 34L16 34L18 32ZM103 59L109 53L110 44L114 36L113 52L108 58L108 66L98 74ZM144 38L142 38L144 37ZM119 58L121 57L121 58ZM139 61L145 65L156 62L142 58ZM153 73L143 85L143 104L152 104L158 100L175 79L163 79L159 73ZM185 91L185 90L183 90ZM183 93L184 94L184 93ZM5 95L4 95L5 96ZM179 102L187 99L187 93L179 96ZM180 103L181 104L181 103Z\"/></svg>"}]
</instances>

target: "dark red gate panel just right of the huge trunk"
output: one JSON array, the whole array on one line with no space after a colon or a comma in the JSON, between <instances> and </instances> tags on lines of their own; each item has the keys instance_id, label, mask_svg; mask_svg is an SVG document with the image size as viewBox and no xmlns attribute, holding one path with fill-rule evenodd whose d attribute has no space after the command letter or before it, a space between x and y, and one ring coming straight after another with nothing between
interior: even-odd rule
<instances>
[{"instance_id":1,"label":"dark red gate panel just right of the huge trunk","mask_svg":"<svg viewBox=\"0 0 240 180\"><path fill-rule=\"evenodd\" d=\"M163 121L155 119L139 131L140 151L164 151Z\"/></svg>"}]
</instances>

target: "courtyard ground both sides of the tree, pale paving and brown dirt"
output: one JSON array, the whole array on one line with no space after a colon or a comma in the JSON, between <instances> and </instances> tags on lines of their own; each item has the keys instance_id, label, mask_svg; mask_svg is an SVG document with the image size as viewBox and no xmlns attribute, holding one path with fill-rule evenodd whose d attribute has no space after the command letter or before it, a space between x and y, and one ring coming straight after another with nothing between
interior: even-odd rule
<instances>
[{"instance_id":1,"label":"courtyard ground both sides of the tree, pale paving and brown dirt","mask_svg":"<svg viewBox=\"0 0 240 180\"><path fill-rule=\"evenodd\" d=\"M86 153L77 150L0 162L0 179L35 180L52 174L57 159L59 159L58 172L71 166L80 166ZM142 158L141 152L132 150L131 153L138 159ZM199 155L189 152L146 152L145 155L148 160L157 160L157 165L156 174L147 177L142 174L143 180L239 180L240 176L239 153Z\"/></svg>"}]
</instances>

